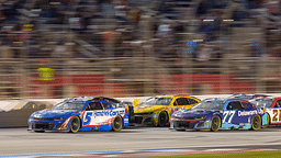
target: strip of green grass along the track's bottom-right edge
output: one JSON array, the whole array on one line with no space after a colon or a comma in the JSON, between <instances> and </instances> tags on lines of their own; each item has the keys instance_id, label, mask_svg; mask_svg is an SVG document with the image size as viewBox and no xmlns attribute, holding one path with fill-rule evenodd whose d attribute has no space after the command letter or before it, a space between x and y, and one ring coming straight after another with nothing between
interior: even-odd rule
<instances>
[{"instance_id":1,"label":"strip of green grass along the track's bottom-right edge","mask_svg":"<svg viewBox=\"0 0 281 158\"><path fill-rule=\"evenodd\" d=\"M173 156L154 156L143 158L281 158L281 150L191 154Z\"/></svg>"}]
</instances>

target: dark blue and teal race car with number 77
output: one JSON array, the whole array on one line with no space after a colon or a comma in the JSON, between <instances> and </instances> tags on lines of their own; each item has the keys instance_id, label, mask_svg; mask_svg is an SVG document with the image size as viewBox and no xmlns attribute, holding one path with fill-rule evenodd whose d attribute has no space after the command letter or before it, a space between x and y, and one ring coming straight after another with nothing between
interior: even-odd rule
<instances>
[{"instance_id":1,"label":"dark blue and teal race car with number 77","mask_svg":"<svg viewBox=\"0 0 281 158\"><path fill-rule=\"evenodd\" d=\"M170 127L191 129L259 129L268 123L265 108L245 100L206 99L195 106L173 113Z\"/></svg>"}]
</instances>

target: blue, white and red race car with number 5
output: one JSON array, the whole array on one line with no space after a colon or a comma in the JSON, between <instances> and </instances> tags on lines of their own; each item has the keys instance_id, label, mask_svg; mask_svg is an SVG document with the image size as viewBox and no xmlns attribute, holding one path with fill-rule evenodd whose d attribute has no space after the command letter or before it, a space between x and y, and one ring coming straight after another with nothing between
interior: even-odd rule
<instances>
[{"instance_id":1,"label":"blue, white and red race car with number 5","mask_svg":"<svg viewBox=\"0 0 281 158\"><path fill-rule=\"evenodd\" d=\"M120 131L127 125L127 106L87 98L65 100L29 119L29 129L34 132Z\"/></svg>"}]
</instances>

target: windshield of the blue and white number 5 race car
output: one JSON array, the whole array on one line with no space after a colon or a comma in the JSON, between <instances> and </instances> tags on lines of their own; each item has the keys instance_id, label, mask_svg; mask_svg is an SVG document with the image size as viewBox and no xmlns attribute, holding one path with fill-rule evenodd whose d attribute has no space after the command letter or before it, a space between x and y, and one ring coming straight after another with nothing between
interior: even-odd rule
<instances>
[{"instance_id":1,"label":"windshield of the blue and white number 5 race car","mask_svg":"<svg viewBox=\"0 0 281 158\"><path fill-rule=\"evenodd\" d=\"M50 110L83 110L83 102L61 102L53 106Z\"/></svg>"}]
</instances>

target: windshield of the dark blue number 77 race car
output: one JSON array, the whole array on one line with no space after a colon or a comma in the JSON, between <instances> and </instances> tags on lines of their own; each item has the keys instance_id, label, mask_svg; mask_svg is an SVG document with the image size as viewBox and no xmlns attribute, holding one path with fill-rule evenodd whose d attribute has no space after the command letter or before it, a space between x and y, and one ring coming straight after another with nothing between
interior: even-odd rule
<instances>
[{"instance_id":1,"label":"windshield of the dark blue number 77 race car","mask_svg":"<svg viewBox=\"0 0 281 158\"><path fill-rule=\"evenodd\" d=\"M193 106L193 110L222 110L224 108L224 101L202 101L198 105Z\"/></svg>"}]
</instances>

